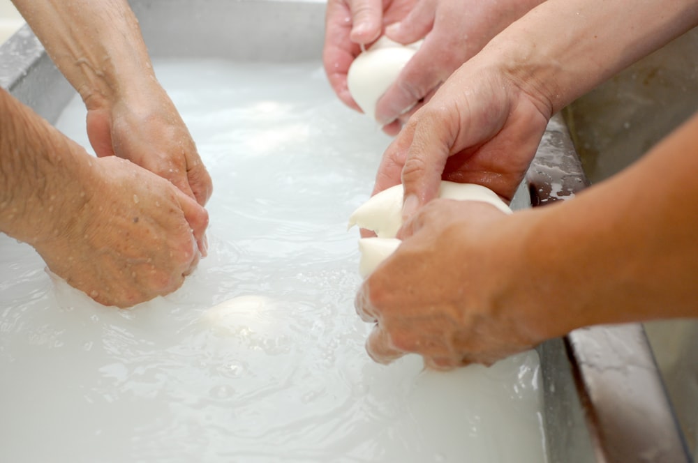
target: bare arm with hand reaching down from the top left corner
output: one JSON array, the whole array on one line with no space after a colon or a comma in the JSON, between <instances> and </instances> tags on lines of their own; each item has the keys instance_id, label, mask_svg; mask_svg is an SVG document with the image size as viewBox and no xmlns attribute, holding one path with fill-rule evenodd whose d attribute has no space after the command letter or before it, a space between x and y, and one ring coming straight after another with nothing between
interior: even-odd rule
<instances>
[{"instance_id":1,"label":"bare arm with hand reaching down from the top left corner","mask_svg":"<svg viewBox=\"0 0 698 463\"><path fill-rule=\"evenodd\" d=\"M97 155L129 159L205 204L211 178L155 77L126 0L13 3L80 93Z\"/></svg>"}]
</instances>

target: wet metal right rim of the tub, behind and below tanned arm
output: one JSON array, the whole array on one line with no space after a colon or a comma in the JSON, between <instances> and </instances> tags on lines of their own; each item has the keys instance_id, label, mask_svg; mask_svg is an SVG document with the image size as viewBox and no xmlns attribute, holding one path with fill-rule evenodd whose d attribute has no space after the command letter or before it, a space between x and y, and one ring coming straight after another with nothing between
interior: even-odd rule
<instances>
[{"instance_id":1,"label":"wet metal right rim of the tub, behind and below tanned arm","mask_svg":"<svg viewBox=\"0 0 698 463\"><path fill-rule=\"evenodd\" d=\"M560 114L547 127L526 183L534 207L571 199L589 185ZM579 416L569 399L547 400L544 420L551 462L692 461L641 324L581 328L562 340L545 342L538 350L547 357L541 362L544 393L560 387L569 390L572 374L590 438L585 447L585 439L572 435L578 432L573 425ZM560 359L549 361L560 351L567 354L571 371L564 371L567 365L560 370L564 365ZM560 425L567 421L572 425Z\"/></svg>"}]
</instances>

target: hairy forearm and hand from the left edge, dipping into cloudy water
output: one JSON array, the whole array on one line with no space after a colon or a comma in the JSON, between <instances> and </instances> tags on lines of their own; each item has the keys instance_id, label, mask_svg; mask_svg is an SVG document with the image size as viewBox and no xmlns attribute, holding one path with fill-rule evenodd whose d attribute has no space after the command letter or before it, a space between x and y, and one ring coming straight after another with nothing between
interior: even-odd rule
<instances>
[{"instance_id":1,"label":"hairy forearm and hand from the left edge, dipping into cloudy water","mask_svg":"<svg viewBox=\"0 0 698 463\"><path fill-rule=\"evenodd\" d=\"M94 158L0 89L0 231L105 305L177 289L198 263L208 214L133 162Z\"/></svg>"}]
</instances>

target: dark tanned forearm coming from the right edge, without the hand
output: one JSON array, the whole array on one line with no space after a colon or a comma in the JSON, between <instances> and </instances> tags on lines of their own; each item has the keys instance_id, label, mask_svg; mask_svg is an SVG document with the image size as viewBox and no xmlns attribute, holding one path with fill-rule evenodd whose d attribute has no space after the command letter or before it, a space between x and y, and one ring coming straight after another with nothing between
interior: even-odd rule
<instances>
[{"instance_id":1,"label":"dark tanned forearm coming from the right edge, without the hand","mask_svg":"<svg viewBox=\"0 0 698 463\"><path fill-rule=\"evenodd\" d=\"M527 276L507 301L544 337L698 316L697 134L694 116L621 174L522 213L514 267Z\"/></svg>"}]
</instances>

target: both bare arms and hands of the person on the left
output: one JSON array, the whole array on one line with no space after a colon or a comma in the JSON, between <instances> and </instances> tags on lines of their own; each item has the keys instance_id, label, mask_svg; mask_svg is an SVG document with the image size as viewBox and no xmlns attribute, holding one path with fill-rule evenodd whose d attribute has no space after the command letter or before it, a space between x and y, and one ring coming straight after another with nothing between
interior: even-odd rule
<instances>
[{"instance_id":1,"label":"both bare arms and hands of the person on the left","mask_svg":"<svg viewBox=\"0 0 698 463\"><path fill-rule=\"evenodd\" d=\"M99 303L181 286L206 255L211 178L123 0L15 0L87 106L98 155L0 95L0 230Z\"/></svg>"}]
</instances>

